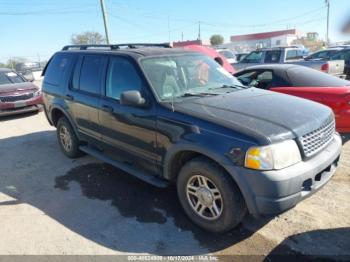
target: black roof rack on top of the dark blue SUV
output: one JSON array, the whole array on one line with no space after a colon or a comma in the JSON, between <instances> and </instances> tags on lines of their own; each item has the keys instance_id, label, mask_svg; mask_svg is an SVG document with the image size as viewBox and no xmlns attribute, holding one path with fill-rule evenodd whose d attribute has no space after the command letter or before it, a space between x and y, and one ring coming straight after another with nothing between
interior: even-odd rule
<instances>
[{"instance_id":1,"label":"black roof rack on top of the dark blue SUV","mask_svg":"<svg viewBox=\"0 0 350 262\"><path fill-rule=\"evenodd\" d=\"M140 48L140 47L164 47L171 48L170 44L150 44L150 43L129 43L129 44L116 44L116 45L66 45L62 50L87 50L87 49L109 49L118 50L121 48Z\"/></svg>"}]
</instances>

